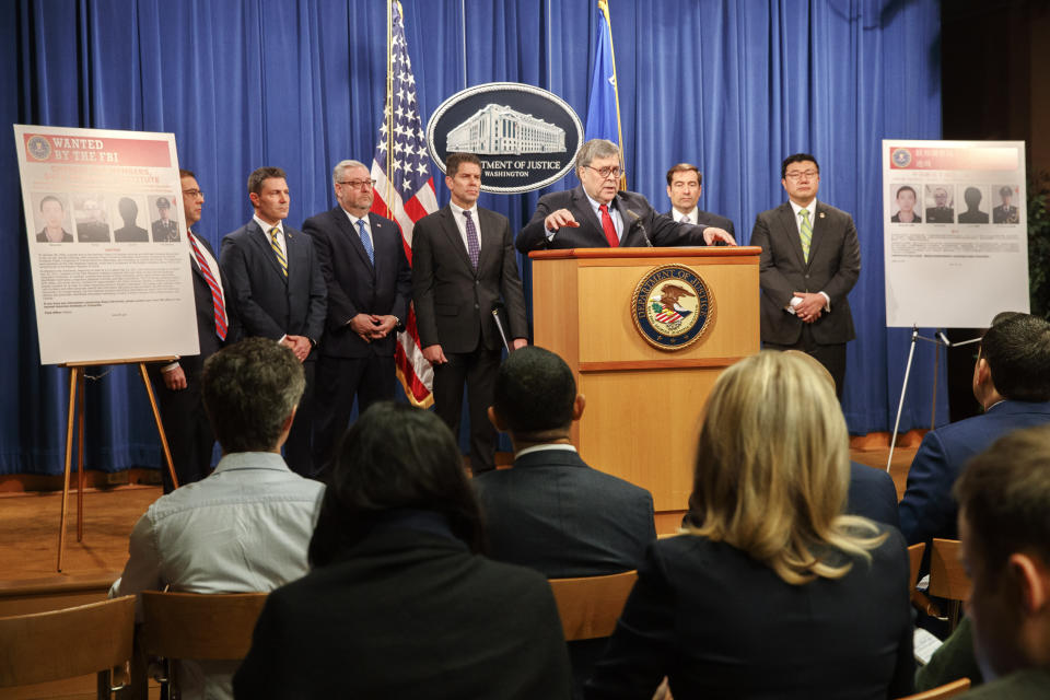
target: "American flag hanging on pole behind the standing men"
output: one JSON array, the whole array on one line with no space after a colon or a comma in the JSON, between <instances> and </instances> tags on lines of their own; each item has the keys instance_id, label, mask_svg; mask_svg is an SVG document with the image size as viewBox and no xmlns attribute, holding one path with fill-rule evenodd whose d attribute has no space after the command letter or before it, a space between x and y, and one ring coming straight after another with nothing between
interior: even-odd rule
<instances>
[{"instance_id":1,"label":"American flag hanging on pole behind the standing men","mask_svg":"<svg viewBox=\"0 0 1050 700\"><path fill-rule=\"evenodd\" d=\"M412 229L427 214L438 211L434 178L430 174L430 156L423 140L416 79L405 43L405 24L399 2L392 0L389 57L387 63L386 107L378 143L372 161L375 200L372 211L393 219L401 228L405 255L412 261ZM423 359L416 329L416 311L409 307L405 332L397 335L395 354L397 377L405 394L416 406L429 407L434 399L433 369Z\"/></svg>"}]
</instances>

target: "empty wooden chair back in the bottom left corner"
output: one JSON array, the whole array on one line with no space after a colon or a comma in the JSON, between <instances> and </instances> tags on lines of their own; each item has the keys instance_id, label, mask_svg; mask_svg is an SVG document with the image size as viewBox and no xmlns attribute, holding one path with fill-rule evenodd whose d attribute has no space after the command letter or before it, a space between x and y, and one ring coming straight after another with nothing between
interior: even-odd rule
<instances>
[{"instance_id":1,"label":"empty wooden chair back in the bottom left corner","mask_svg":"<svg viewBox=\"0 0 1050 700\"><path fill-rule=\"evenodd\" d=\"M97 695L108 698L110 672L131 660L133 639L133 595L0 618L0 688L97 673Z\"/></svg>"}]
</instances>

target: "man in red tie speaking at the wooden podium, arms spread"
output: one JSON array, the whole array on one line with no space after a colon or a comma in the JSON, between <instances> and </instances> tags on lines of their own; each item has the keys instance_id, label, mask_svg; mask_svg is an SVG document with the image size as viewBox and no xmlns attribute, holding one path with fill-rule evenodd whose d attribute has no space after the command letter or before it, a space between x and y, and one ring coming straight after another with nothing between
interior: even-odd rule
<instances>
[{"instance_id":1,"label":"man in red tie speaking at the wooden podium, arms spread","mask_svg":"<svg viewBox=\"0 0 1050 700\"><path fill-rule=\"evenodd\" d=\"M695 226L656 213L638 192L618 191L620 149L592 139L576 153L580 187L539 198L536 213L517 234L522 253L541 248L711 245L736 241L724 229Z\"/></svg>"}]
</instances>

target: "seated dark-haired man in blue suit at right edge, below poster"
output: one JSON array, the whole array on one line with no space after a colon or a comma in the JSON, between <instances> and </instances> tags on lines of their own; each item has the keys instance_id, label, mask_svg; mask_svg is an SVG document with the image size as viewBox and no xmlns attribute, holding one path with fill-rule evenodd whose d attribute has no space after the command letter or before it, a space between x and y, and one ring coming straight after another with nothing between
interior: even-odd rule
<instances>
[{"instance_id":1,"label":"seated dark-haired man in blue suit at right edge, below poster","mask_svg":"<svg viewBox=\"0 0 1050 700\"><path fill-rule=\"evenodd\" d=\"M932 430L919 445L900 501L908 544L957 539L952 485L964 465L1001 435L1050 423L1050 322L999 314L981 340L973 396L983 415Z\"/></svg>"}]
</instances>

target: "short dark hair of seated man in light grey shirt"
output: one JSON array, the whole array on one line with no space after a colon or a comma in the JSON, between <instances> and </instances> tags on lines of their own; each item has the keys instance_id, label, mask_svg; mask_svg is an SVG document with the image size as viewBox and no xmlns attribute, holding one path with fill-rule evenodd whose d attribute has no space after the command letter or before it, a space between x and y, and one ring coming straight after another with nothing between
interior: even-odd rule
<instances>
[{"instance_id":1,"label":"short dark hair of seated man in light grey shirt","mask_svg":"<svg viewBox=\"0 0 1050 700\"><path fill-rule=\"evenodd\" d=\"M201 395L224 453L269 452L306 387L295 354L269 338L248 338L205 362Z\"/></svg>"}]
</instances>

